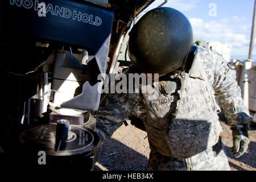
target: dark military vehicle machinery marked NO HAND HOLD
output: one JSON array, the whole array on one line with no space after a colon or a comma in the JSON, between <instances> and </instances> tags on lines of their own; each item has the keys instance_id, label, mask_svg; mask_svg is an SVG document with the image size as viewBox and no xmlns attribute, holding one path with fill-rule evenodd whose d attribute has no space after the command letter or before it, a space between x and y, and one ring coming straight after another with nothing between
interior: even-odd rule
<instances>
[{"instance_id":1,"label":"dark military vehicle machinery marked NO HAND HOLD","mask_svg":"<svg viewBox=\"0 0 256 182\"><path fill-rule=\"evenodd\" d=\"M97 76L113 72L126 32L152 2L0 1L1 165L92 168Z\"/></svg>"}]
</instances>

